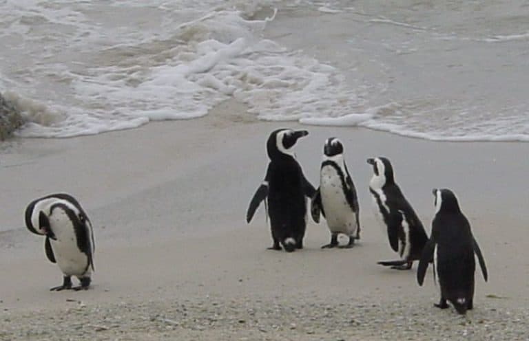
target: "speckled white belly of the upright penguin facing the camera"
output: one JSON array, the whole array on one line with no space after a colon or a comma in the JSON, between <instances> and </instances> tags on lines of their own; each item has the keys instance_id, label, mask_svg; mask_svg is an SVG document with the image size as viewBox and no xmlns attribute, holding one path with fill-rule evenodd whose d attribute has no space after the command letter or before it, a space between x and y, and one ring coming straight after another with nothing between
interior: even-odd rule
<instances>
[{"instance_id":1,"label":"speckled white belly of the upright penguin facing the camera","mask_svg":"<svg viewBox=\"0 0 529 341\"><path fill-rule=\"evenodd\" d=\"M329 230L349 236L355 234L355 212L347 202L342 179L333 166L325 166L321 170L320 195Z\"/></svg>"}]
</instances>

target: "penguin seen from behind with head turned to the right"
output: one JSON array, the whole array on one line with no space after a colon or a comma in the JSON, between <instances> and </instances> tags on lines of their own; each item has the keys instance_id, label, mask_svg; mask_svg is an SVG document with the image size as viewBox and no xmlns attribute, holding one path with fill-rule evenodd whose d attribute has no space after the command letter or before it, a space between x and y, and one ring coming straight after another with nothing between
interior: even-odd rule
<instances>
[{"instance_id":1,"label":"penguin seen from behind with head turned to the right","mask_svg":"<svg viewBox=\"0 0 529 341\"><path fill-rule=\"evenodd\" d=\"M261 201L267 199L272 250L281 250L280 245L287 252L303 248L307 224L306 197L313 197L315 190L303 175L292 148L300 137L308 134L304 130L278 129L267 141L270 158L267 175L250 201L246 221L251 221Z\"/></svg>"}]
</instances>

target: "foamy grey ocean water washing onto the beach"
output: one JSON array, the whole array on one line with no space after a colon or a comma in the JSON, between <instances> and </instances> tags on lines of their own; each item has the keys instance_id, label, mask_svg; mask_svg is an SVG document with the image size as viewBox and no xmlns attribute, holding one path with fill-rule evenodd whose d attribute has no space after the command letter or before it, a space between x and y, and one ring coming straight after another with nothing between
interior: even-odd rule
<instances>
[{"instance_id":1,"label":"foamy grey ocean water washing onto the beach","mask_svg":"<svg viewBox=\"0 0 529 341\"><path fill-rule=\"evenodd\" d=\"M0 0L0 91L21 137L192 119L529 141L529 3Z\"/></svg>"}]
</instances>

